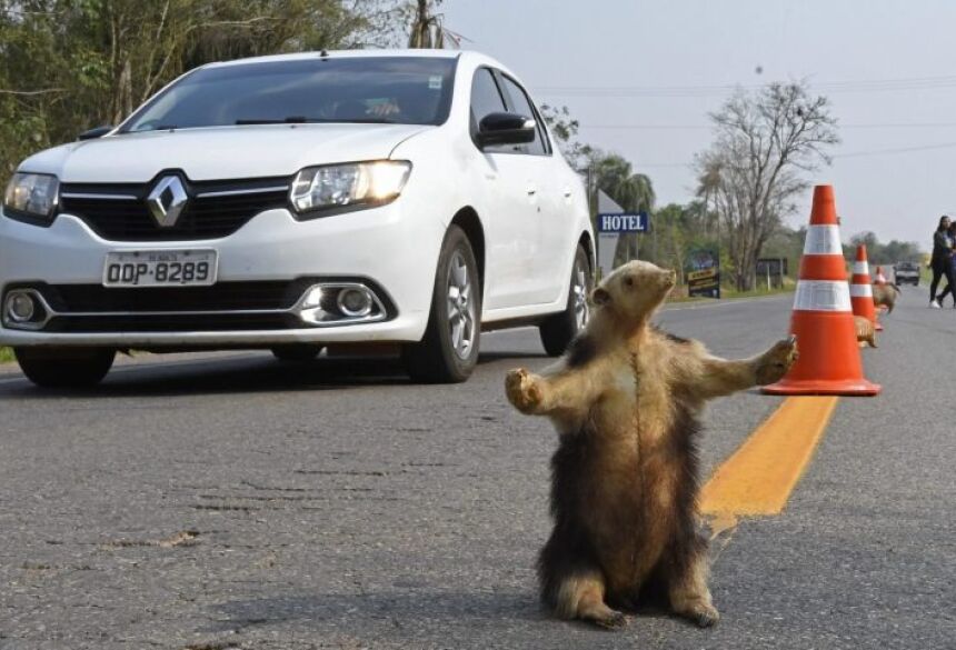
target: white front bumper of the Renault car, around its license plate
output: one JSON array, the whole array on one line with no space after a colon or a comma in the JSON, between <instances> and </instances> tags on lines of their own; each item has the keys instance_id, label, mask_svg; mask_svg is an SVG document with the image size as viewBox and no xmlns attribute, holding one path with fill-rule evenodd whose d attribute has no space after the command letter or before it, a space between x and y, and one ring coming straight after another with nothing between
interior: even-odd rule
<instances>
[{"instance_id":1,"label":"white front bumper of the Renault car, around its license plate","mask_svg":"<svg viewBox=\"0 0 956 650\"><path fill-rule=\"evenodd\" d=\"M157 311L149 307L145 312L132 314L135 318L126 319L108 308L94 306L93 311L108 311L110 318L94 319L90 317L102 314L86 313L89 308L79 310L87 317L80 331L76 331L77 328L62 331L66 320L62 318L59 327L54 327L58 319L52 319L46 329L37 331L0 323L0 344L215 348L418 341L428 321L440 237L437 224L428 229L420 220L404 218L400 202L302 222L292 219L285 209L275 209L258 214L223 239L143 243L106 241L69 214L61 214L49 228L0 216L0 290L4 296L17 287L39 287L44 298L49 293L43 287L96 288L102 281L109 251L212 248L219 253L217 284L210 288L213 293L218 287L225 290L269 282L286 282L305 291L310 282L348 279L375 287L376 293L388 304L388 317L380 322L321 327L298 316L292 308L301 307L298 299L291 301L291 307L272 306L253 313L242 309L241 300L206 309L196 304L193 296L183 300L181 308L162 306ZM179 290L165 288L162 291L176 296ZM183 293L183 298L187 297ZM63 304L53 303L53 310L60 316L71 316L71 309L64 309ZM233 321L235 328L229 326ZM92 322L96 327L86 324Z\"/></svg>"}]
</instances>

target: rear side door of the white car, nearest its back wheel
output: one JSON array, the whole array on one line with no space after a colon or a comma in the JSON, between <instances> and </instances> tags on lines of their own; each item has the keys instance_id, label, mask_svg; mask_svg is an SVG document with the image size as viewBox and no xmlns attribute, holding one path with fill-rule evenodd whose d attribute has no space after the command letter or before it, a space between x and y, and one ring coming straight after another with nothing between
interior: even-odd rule
<instances>
[{"instance_id":1,"label":"rear side door of the white car, nearest its back wheel","mask_svg":"<svg viewBox=\"0 0 956 650\"><path fill-rule=\"evenodd\" d=\"M510 77L501 76L511 112L534 118L538 124L534 142L524 146L529 186L537 191L535 214L535 259L528 264L532 276L535 302L557 300L568 286L569 260L572 252L574 224L572 179L567 164L554 154L547 129L528 92ZM571 172L572 173L572 172Z\"/></svg>"}]
</instances>

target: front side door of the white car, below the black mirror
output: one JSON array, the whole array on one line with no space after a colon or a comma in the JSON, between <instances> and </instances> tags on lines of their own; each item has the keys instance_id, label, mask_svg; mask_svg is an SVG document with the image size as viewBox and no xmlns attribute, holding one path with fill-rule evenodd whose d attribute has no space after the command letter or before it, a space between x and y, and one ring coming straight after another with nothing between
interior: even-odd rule
<instances>
[{"instance_id":1,"label":"front side door of the white car, below the black mirror","mask_svg":"<svg viewBox=\"0 0 956 650\"><path fill-rule=\"evenodd\" d=\"M476 141L481 119L507 111L499 81L490 68L479 68L471 81L471 137ZM476 141L476 148L478 148ZM539 243L538 189L534 166L521 146L478 148L478 170L486 231L484 307L487 310L534 303L532 263Z\"/></svg>"}]
</instances>

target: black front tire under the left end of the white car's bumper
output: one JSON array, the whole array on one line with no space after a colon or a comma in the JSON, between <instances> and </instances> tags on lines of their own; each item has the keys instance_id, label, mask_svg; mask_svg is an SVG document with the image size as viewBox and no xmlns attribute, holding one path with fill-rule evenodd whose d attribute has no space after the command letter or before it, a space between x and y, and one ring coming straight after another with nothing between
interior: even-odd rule
<instances>
[{"instance_id":1,"label":"black front tire under the left end of the white car's bumper","mask_svg":"<svg viewBox=\"0 0 956 650\"><path fill-rule=\"evenodd\" d=\"M110 348L14 348L27 379L41 388L90 388L112 368Z\"/></svg>"}]
</instances>

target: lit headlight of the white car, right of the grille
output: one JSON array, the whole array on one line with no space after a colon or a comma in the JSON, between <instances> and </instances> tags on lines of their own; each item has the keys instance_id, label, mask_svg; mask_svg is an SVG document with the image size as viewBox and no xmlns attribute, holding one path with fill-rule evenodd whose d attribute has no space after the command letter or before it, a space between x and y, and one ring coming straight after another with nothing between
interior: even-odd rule
<instances>
[{"instance_id":1,"label":"lit headlight of the white car, right of the grille","mask_svg":"<svg viewBox=\"0 0 956 650\"><path fill-rule=\"evenodd\" d=\"M398 198L410 172L406 160L307 167L296 174L289 199L307 218L384 206Z\"/></svg>"}]
</instances>

